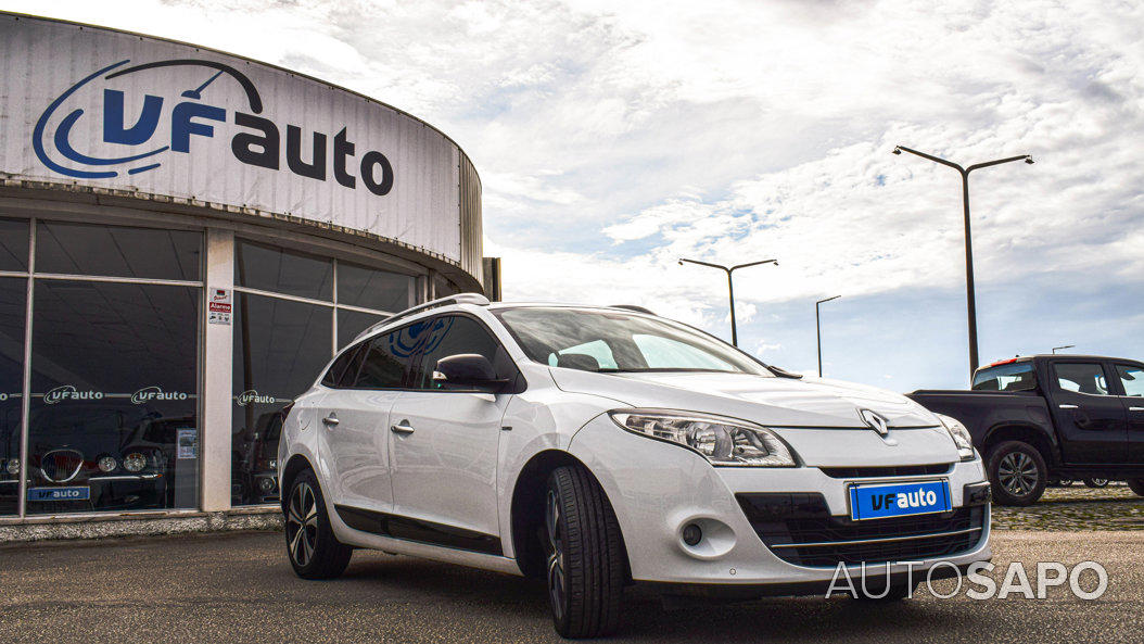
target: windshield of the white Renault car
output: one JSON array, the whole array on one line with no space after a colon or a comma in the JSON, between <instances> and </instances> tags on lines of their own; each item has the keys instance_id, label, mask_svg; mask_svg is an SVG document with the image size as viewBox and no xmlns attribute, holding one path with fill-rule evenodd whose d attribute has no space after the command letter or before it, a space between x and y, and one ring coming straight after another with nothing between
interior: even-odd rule
<instances>
[{"instance_id":1,"label":"windshield of the white Renault car","mask_svg":"<svg viewBox=\"0 0 1144 644\"><path fill-rule=\"evenodd\" d=\"M595 372L726 372L773 375L738 349L681 324L620 311L501 309L496 316L538 363Z\"/></svg>"}]
</instances>

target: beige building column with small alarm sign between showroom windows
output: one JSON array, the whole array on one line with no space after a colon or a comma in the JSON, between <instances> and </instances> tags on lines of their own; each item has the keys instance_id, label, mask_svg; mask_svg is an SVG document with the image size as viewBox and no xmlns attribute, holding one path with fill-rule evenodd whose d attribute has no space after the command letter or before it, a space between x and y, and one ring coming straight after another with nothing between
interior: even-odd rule
<instances>
[{"instance_id":1,"label":"beige building column with small alarm sign between showroom windows","mask_svg":"<svg viewBox=\"0 0 1144 644\"><path fill-rule=\"evenodd\" d=\"M202 439L200 442L204 511L230 509L231 485L231 360L235 349L235 233L207 229L206 293L202 315ZM225 291L230 311L225 324L210 317L210 302Z\"/></svg>"}]
</instances>

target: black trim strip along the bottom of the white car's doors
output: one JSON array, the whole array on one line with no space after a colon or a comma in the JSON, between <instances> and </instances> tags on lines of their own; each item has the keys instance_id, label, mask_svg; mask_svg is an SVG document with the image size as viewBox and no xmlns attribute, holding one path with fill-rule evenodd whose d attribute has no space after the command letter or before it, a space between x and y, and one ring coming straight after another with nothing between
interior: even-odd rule
<instances>
[{"instance_id":1,"label":"black trim strip along the bottom of the white car's doors","mask_svg":"<svg viewBox=\"0 0 1144 644\"><path fill-rule=\"evenodd\" d=\"M482 555L505 554L500 538L492 534L351 506L335 504L334 509L342 523L362 532Z\"/></svg>"}]
</instances>

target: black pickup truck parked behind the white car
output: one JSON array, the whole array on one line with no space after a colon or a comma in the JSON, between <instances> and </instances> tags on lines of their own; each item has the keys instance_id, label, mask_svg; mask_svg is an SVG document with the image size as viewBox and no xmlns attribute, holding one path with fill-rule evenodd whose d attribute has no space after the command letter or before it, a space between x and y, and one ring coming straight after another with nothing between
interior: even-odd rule
<instances>
[{"instance_id":1,"label":"black pickup truck parked behind the white car","mask_svg":"<svg viewBox=\"0 0 1144 644\"><path fill-rule=\"evenodd\" d=\"M1027 356L977 369L971 391L908 395L959 420L982 453L993 499L1027 506L1050 479L1127 480L1144 496L1144 364Z\"/></svg>"}]
</instances>

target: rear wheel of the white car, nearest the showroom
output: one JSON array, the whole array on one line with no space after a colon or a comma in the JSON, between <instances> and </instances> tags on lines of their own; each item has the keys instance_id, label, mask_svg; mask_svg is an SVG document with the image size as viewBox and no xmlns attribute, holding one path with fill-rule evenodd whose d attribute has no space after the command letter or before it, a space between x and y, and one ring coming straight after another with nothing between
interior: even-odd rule
<instances>
[{"instance_id":1,"label":"rear wheel of the white car, nearest the showroom","mask_svg":"<svg viewBox=\"0 0 1144 644\"><path fill-rule=\"evenodd\" d=\"M311 470L291 484L286 498L286 557L302 579L334 579L345 571L353 548L334 536L321 487Z\"/></svg>"}]
</instances>

